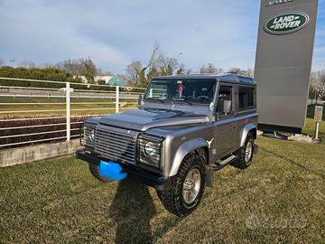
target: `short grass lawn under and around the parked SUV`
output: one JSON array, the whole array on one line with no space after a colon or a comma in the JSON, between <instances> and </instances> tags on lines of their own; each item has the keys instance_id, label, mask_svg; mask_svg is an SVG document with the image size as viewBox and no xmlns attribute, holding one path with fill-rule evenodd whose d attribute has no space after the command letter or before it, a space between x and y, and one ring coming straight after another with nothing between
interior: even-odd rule
<instances>
[{"instance_id":1,"label":"short grass lawn under and around the parked SUV","mask_svg":"<svg viewBox=\"0 0 325 244\"><path fill-rule=\"evenodd\" d=\"M99 183L74 156L1 168L0 242L323 242L325 145L257 143L252 166L216 173L215 187L184 219L144 185ZM250 216L259 219L257 230L246 227Z\"/></svg>"}]
</instances>

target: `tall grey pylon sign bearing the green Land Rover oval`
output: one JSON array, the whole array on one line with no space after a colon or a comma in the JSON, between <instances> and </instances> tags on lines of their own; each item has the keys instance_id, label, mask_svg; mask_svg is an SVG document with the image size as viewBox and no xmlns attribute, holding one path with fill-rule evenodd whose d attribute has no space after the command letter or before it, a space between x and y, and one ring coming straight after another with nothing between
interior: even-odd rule
<instances>
[{"instance_id":1,"label":"tall grey pylon sign bearing the green Land Rover oval","mask_svg":"<svg viewBox=\"0 0 325 244\"><path fill-rule=\"evenodd\" d=\"M259 127L301 132L318 0L261 1L255 59Z\"/></svg>"}]
</instances>

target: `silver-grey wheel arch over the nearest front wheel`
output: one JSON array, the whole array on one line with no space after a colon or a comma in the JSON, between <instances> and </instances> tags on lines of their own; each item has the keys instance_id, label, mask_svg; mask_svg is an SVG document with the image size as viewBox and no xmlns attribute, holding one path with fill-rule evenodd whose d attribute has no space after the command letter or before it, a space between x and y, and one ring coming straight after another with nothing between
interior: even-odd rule
<instances>
[{"instance_id":1,"label":"silver-grey wheel arch over the nearest front wheel","mask_svg":"<svg viewBox=\"0 0 325 244\"><path fill-rule=\"evenodd\" d=\"M184 157L190 154L191 152L195 152L198 155L202 155L206 160L206 163L209 163L209 145L207 141L203 138L192 139L182 144L176 151L176 154L173 157L172 167L168 176L177 174Z\"/></svg>"}]
</instances>

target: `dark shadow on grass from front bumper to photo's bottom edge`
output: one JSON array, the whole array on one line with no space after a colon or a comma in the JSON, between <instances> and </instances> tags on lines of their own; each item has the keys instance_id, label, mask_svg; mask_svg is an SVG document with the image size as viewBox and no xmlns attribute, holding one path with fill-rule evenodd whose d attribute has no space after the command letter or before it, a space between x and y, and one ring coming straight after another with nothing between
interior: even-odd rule
<instances>
[{"instance_id":1,"label":"dark shadow on grass from front bumper to photo's bottom edge","mask_svg":"<svg viewBox=\"0 0 325 244\"><path fill-rule=\"evenodd\" d=\"M109 217L116 222L116 243L152 243L150 221L155 213L148 187L131 180L118 183Z\"/></svg>"}]
</instances>

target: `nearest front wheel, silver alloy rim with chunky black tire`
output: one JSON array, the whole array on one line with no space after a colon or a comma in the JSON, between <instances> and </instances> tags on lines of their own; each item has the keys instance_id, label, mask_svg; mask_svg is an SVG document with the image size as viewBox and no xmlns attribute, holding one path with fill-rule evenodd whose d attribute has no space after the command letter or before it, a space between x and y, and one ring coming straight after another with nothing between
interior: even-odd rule
<instances>
[{"instance_id":1,"label":"nearest front wheel, silver alloy rim with chunky black tire","mask_svg":"<svg viewBox=\"0 0 325 244\"><path fill-rule=\"evenodd\" d=\"M173 214L184 217L194 211L205 188L205 162L200 155L187 155L178 173L172 176L171 186L157 191L163 206Z\"/></svg>"}]
</instances>

